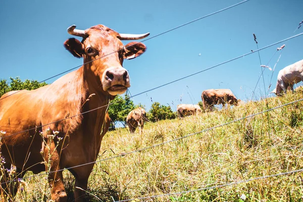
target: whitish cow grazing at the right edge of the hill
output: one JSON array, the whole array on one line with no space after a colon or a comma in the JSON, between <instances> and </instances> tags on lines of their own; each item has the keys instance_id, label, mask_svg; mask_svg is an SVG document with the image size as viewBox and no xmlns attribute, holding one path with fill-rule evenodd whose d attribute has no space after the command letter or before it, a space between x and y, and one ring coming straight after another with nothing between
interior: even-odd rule
<instances>
[{"instance_id":1,"label":"whitish cow grazing at the right edge of the hill","mask_svg":"<svg viewBox=\"0 0 303 202\"><path fill-rule=\"evenodd\" d=\"M303 80L303 60L289 65L279 71L276 88L272 91L276 95L286 93L289 87L293 91L293 85Z\"/></svg>"}]
</instances>

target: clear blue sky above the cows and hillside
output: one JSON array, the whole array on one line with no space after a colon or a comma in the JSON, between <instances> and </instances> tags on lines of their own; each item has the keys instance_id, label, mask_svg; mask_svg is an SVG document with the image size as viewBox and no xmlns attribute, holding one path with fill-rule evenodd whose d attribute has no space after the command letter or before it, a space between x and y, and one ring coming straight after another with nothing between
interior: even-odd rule
<instances>
[{"instance_id":1,"label":"clear blue sky above the cows and hillside","mask_svg":"<svg viewBox=\"0 0 303 202\"><path fill-rule=\"evenodd\" d=\"M44 80L81 65L63 47L71 37L66 29L77 25L86 29L104 24L121 33L150 32L154 36L168 29L239 3L239 0L192 1L1 1L0 2L0 78L20 76ZM127 4L128 3L128 4ZM147 51L139 58L125 61L129 71L132 95L157 87L180 77L256 50L292 35L303 20L303 1L250 0L230 10L194 22L172 32L150 39ZM295 31L295 32L294 32ZM128 43L129 41L124 41ZM273 68L275 86L278 71L303 59L303 36L260 52L266 65L276 48L286 44L269 65ZM199 56L200 54L200 56ZM135 104L150 108L153 102L169 104L175 110L181 103L201 101L201 92L210 88L230 88L240 99L250 99L261 68L258 53L212 70L183 79L162 88L135 96ZM266 88L272 71L264 71ZM51 83L57 78L46 81ZM264 95L263 79L257 95ZM180 98L182 97L182 100Z\"/></svg>"}]
</instances>

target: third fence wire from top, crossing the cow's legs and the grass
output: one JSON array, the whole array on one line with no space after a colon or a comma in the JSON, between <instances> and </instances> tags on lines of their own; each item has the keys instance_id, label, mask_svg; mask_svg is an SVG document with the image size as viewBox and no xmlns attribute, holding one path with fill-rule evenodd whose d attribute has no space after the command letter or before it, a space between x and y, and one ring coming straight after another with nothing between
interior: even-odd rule
<instances>
[{"instance_id":1,"label":"third fence wire from top, crossing the cow's legs and the grass","mask_svg":"<svg viewBox=\"0 0 303 202\"><path fill-rule=\"evenodd\" d=\"M276 109L278 109L278 108L282 108L282 107L285 107L285 106L288 106L288 105L292 105L292 104L294 104L294 103L298 103L298 102L301 102L301 101L303 101L303 98L294 100L293 102L289 102L289 103L286 103L286 104L284 104L284 105L280 105L280 106L277 106L277 107L274 107L274 108L271 108L271 109L268 109L268 110L265 110L265 111L262 111L262 112L258 112L258 113L256 113L256 114L252 114L252 115L248 115L248 116L246 116L246 117L242 117L242 118L239 118L239 119L235 119L235 120L233 120L233 121L230 121L230 122L227 122L227 123L224 123L224 124L220 124L220 125L217 125L217 126L213 126L213 127L211 127L211 128L207 128L207 129L204 129L204 130L201 130L201 131L198 131L198 132L190 133L190 134L188 134L188 135L185 135L185 136L182 136L182 137L178 137L178 138L176 138L176 139L172 139L172 140L169 140L169 141L165 141L165 142L162 142L162 143L159 143L159 144L155 144L155 145L152 145L152 146L147 146L147 147L144 147L144 148L141 148L141 149L133 150L133 151L130 151L130 152L128 152L128 153L123 153L123 154L120 154L120 155L117 155L117 156L114 156L114 157L109 157L109 158L106 158L106 159L101 159L101 160L94 161L94 162L89 162L89 163L86 163L86 164L81 164L81 165L77 165L77 166L73 166L73 167L69 167L69 168L64 168L64 169L60 169L60 170L57 170L57 171L50 171L50 172L45 172L45 173L39 173L39 174L36 174L36 175L31 175L31 176L23 177L23 178L21 178L21 179L27 179L27 178L32 178L32 177L38 177L38 176L41 176L41 175L48 175L48 174L50 174L50 173L61 172L61 171L64 171L64 170L73 169L73 168L77 168L77 167L81 167L81 166L86 166L86 165L90 165L90 164L95 164L95 163L99 163L99 162L103 162L103 161L115 159L115 158L118 158L118 157L124 157L124 156L126 156L126 155L130 155L130 154L137 153L137 152L139 152L139 151L147 150L147 149L154 148L154 147L157 147L157 146L161 146L161 145L164 145L164 144L167 144L167 143L170 143L170 142L174 142L174 141L177 141L177 140L180 140L180 139L184 139L184 138L187 138L187 137L192 136L192 135L196 135L196 134L199 134L199 133L203 133L203 132L207 132L207 131L209 131L209 130L213 130L213 129L219 128L219 127L223 127L223 126L229 125L229 124L234 123L234 122L237 122L237 121L241 121L241 120L244 120L244 119L248 119L248 118L250 118L250 117L255 117L255 116L257 116L257 115L264 114L264 113L266 113L266 112L270 112L270 111L276 110ZM10 180L10 181L6 181L6 182L2 182L1 184L11 183L11 182L15 182L15 181L17 181L17 179L15 179L15 180Z\"/></svg>"}]
</instances>

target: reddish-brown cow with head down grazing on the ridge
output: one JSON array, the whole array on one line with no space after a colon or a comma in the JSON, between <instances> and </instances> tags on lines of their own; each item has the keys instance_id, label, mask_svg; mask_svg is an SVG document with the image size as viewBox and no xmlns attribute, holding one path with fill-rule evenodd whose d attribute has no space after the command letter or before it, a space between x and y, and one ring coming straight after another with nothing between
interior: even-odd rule
<instances>
[{"instance_id":1,"label":"reddish-brown cow with head down grazing on the ridge","mask_svg":"<svg viewBox=\"0 0 303 202\"><path fill-rule=\"evenodd\" d=\"M230 89L209 89L204 90L201 94L204 109L212 110L214 105L225 104L237 106L240 99L232 93Z\"/></svg>"}]
</instances>

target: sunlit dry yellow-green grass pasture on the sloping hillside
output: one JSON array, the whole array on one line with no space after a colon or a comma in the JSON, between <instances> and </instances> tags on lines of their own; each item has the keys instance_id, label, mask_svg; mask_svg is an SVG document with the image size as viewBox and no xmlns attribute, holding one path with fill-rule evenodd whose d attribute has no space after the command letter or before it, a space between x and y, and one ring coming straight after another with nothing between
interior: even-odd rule
<instances>
[{"instance_id":1,"label":"sunlit dry yellow-green grass pasture on the sloping hillside","mask_svg":"<svg viewBox=\"0 0 303 202\"><path fill-rule=\"evenodd\" d=\"M142 135L108 132L98 160L186 136L303 97L303 91L211 113L145 123ZM96 163L88 201L117 201L194 190L303 168L303 102L133 154ZM32 173L27 173L27 176ZM73 201L73 177L64 172ZM46 175L24 180L16 201L49 201ZM111 197L112 196L112 197ZM219 188L132 201L302 201L297 172Z\"/></svg>"}]
</instances>

